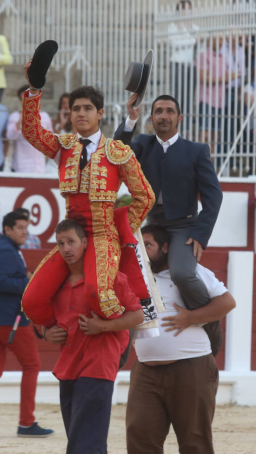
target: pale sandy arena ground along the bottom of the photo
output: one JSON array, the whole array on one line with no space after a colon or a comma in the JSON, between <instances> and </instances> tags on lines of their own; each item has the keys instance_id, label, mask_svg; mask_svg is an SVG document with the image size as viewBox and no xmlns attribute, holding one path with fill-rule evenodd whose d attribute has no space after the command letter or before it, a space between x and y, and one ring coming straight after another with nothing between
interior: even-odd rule
<instances>
[{"instance_id":1,"label":"pale sandy arena ground along the bottom of the photo","mask_svg":"<svg viewBox=\"0 0 256 454\"><path fill-rule=\"evenodd\" d=\"M35 414L39 425L55 431L48 438L18 438L18 413L18 405L1 405L1 454L65 454L67 438L57 405L38 404L36 407ZM126 453L124 418L125 405L114 405L108 436L108 454ZM256 407L217 407L213 439L215 454L256 454ZM172 429L166 439L165 454L178 454Z\"/></svg>"}]
</instances>

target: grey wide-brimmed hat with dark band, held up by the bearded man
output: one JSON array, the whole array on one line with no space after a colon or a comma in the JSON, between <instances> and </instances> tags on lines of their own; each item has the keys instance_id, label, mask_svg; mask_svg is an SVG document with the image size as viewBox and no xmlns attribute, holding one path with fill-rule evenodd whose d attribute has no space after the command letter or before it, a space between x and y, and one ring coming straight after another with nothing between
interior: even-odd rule
<instances>
[{"instance_id":1,"label":"grey wide-brimmed hat with dark band, held up by the bearded man","mask_svg":"<svg viewBox=\"0 0 256 454\"><path fill-rule=\"evenodd\" d=\"M137 93L134 107L139 107L147 90L149 77L153 64L153 50L150 49L145 56L144 62L131 62L124 78L124 89Z\"/></svg>"}]
</instances>

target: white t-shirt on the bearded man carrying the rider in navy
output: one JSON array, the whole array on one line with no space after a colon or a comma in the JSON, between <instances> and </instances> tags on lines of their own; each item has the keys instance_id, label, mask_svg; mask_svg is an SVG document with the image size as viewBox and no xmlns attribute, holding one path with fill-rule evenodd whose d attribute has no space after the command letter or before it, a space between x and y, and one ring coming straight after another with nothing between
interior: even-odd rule
<instances>
[{"instance_id":1,"label":"white t-shirt on the bearded man carrying the rider in navy","mask_svg":"<svg viewBox=\"0 0 256 454\"><path fill-rule=\"evenodd\" d=\"M223 295L227 292L223 282L220 282L212 271L197 265L197 276L204 282L210 298ZM152 338L136 339L135 350L140 362L147 361L175 361L185 358L196 358L212 352L209 337L204 328L191 325L177 336L176 330L166 332L166 326L161 326L161 318L177 315L173 303L185 307L178 288L170 278L168 269L154 274L160 294L163 297L165 311L160 314L159 333Z\"/></svg>"}]
</instances>

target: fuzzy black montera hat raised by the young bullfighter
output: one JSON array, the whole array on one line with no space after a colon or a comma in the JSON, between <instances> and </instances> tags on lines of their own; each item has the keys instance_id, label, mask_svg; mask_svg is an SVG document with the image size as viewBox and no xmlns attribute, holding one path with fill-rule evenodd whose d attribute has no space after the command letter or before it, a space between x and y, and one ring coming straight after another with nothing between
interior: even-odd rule
<instances>
[{"instance_id":1,"label":"fuzzy black montera hat raised by the young bullfighter","mask_svg":"<svg viewBox=\"0 0 256 454\"><path fill-rule=\"evenodd\" d=\"M42 42L36 48L28 69L28 78L32 87L42 88L44 86L45 75L57 50L58 45L56 41L52 41L51 39Z\"/></svg>"}]
</instances>

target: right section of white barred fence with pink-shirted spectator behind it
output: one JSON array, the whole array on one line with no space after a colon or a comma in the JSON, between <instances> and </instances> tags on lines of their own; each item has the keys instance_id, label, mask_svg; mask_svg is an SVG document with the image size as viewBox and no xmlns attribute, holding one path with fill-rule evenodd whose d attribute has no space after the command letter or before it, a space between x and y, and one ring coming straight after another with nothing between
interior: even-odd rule
<instances>
[{"instance_id":1,"label":"right section of white barred fence with pink-shirted spectator behind it","mask_svg":"<svg viewBox=\"0 0 256 454\"><path fill-rule=\"evenodd\" d=\"M254 0L205 0L155 21L155 92L181 105L181 133L208 142L219 175L255 174Z\"/></svg>"}]
</instances>

